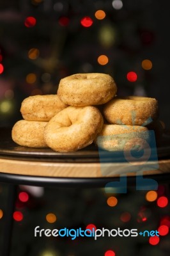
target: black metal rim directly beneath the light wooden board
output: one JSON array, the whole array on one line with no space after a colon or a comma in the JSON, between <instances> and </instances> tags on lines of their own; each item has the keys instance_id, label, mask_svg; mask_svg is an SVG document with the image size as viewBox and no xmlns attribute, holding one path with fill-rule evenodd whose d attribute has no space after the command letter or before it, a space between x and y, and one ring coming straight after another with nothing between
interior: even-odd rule
<instances>
[{"instance_id":1,"label":"black metal rim directly beneath the light wooden board","mask_svg":"<svg viewBox=\"0 0 170 256\"><path fill-rule=\"evenodd\" d=\"M161 183L170 183L170 173L146 175L143 179L153 179ZM0 182L49 188L104 188L108 182L119 181L120 177L72 178L72 177L41 177L0 173ZM135 186L136 176L127 177L127 185Z\"/></svg>"}]
</instances>

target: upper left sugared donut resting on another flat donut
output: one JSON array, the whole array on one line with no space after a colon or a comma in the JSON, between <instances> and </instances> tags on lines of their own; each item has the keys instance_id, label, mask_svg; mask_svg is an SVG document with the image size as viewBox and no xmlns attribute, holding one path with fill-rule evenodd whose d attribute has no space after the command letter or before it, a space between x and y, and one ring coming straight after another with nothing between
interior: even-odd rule
<instances>
[{"instance_id":1,"label":"upper left sugared donut resting on another flat donut","mask_svg":"<svg viewBox=\"0 0 170 256\"><path fill-rule=\"evenodd\" d=\"M58 95L35 95L22 101L20 112L25 120L47 122L66 107Z\"/></svg>"}]
</instances>

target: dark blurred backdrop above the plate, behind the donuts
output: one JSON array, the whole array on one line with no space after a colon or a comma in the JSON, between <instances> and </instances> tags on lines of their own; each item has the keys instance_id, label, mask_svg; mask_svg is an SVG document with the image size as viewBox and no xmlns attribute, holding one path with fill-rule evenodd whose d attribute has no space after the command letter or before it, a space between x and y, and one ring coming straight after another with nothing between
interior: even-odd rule
<instances>
[{"instance_id":1,"label":"dark blurred backdrop above the plate, behind the donuts","mask_svg":"<svg viewBox=\"0 0 170 256\"><path fill-rule=\"evenodd\" d=\"M115 9L111 0L0 1L1 126L22 118L25 97L56 93L59 80L70 74L103 72L114 77L118 95L158 99L160 120L169 127L169 2L120 3ZM97 10L104 10L104 19L95 17ZM30 16L35 26L26 26ZM82 26L83 17L93 24ZM97 61L102 54L109 58L106 65ZM141 67L146 59L150 70ZM137 81L127 80L130 71Z\"/></svg>"}]
</instances>

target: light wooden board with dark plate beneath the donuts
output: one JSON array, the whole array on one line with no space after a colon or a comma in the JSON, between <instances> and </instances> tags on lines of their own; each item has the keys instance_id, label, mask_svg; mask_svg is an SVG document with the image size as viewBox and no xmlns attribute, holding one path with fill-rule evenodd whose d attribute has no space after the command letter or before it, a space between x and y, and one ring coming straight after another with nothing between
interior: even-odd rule
<instances>
[{"instance_id":1,"label":"light wooden board with dark plate beneath the donuts","mask_svg":"<svg viewBox=\"0 0 170 256\"><path fill-rule=\"evenodd\" d=\"M131 168L127 161L121 159L120 154L114 155L114 161L110 161L110 155L107 154L109 160L101 163L95 145L69 153L54 152L50 148L20 147L12 141L10 128L0 128L0 172L2 173L77 178L170 173L169 134L164 134L158 143L157 154L158 161L148 161L147 168L138 170L139 168L135 168L134 165Z\"/></svg>"}]
</instances>

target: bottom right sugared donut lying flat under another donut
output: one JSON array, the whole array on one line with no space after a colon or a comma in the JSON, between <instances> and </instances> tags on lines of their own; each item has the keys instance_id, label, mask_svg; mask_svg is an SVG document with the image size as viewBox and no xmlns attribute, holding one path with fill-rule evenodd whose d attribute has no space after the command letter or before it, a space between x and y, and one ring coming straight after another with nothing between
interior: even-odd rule
<instances>
[{"instance_id":1,"label":"bottom right sugared donut lying flat under another donut","mask_svg":"<svg viewBox=\"0 0 170 256\"><path fill-rule=\"evenodd\" d=\"M108 151L135 150L148 147L150 134L139 125L104 124L95 143Z\"/></svg>"}]
</instances>

